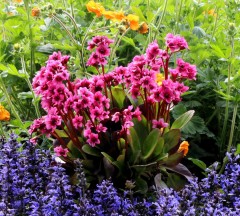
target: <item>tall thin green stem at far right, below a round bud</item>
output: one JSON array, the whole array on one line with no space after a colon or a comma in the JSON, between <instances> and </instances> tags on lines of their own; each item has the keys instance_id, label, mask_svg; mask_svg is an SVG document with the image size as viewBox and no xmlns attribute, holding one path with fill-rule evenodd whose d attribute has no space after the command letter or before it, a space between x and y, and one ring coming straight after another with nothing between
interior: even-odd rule
<instances>
[{"instance_id":1,"label":"tall thin green stem at far right, below a round bud","mask_svg":"<svg viewBox=\"0 0 240 216\"><path fill-rule=\"evenodd\" d=\"M227 82L227 96L230 95L230 91L231 91L231 72L232 72L232 63L231 63L231 59L234 56L234 37L231 37L230 40L231 43L231 54L230 54L230 59L229 59L229 63L228 63L228 82ZM226 101L226 107L225 107L225 114L224 114L224 122L223 122L223 129L222 129L222 133L221 133L221 144L220 144L220 153L222 153L224 145L225 145L225 141L226 141L226 129L227 129L227 122L228 122L228 116L229 116L229 101Z\"/></svg>"}]
</instances>

